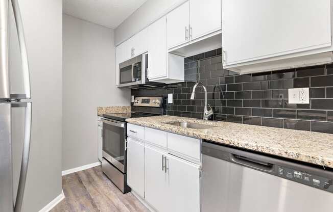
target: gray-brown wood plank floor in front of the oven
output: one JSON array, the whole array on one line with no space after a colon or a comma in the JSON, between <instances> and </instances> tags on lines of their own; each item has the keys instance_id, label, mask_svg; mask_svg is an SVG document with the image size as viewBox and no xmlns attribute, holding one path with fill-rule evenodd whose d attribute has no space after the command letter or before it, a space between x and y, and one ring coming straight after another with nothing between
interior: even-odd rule
<instances>
[{"instance_id":1,"label":"gray-brown wood plank floor in front of the oven","mask_svg":"<svg viewBox=\"0 0 333 212\"><path fill-rule=\"evenodd\" d=\"M132 193L118 190L101 166L63 176L62 188L66 198L51 212L149 211Z\"/></svg>"}]
</instances>

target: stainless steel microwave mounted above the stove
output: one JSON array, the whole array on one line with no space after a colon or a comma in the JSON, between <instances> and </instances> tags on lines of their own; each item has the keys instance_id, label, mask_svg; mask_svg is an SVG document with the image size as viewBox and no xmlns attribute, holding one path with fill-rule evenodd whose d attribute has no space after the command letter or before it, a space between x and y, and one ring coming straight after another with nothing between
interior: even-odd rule
<instances>
[{"instance_id":1,"label":"stainless steel microwave mounted above the stove","mask_svg":"<svg viewBox=\"0 0 333 212\"><path fill-rule=\"evenodd\" d=\"M119 87L151 88L164 85L148 80L148 53L131 58L119 64Z\"/></svg>"}]
</instances>

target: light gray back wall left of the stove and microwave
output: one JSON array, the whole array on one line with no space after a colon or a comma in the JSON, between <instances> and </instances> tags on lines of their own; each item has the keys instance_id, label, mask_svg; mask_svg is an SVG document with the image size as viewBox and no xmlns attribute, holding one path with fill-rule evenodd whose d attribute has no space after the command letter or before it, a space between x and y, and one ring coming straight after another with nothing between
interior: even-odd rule
<instances>
[{"instance_id":1,"label":"light gray back wall left of the stove and microwave","mask_svg":"<svg viewBox=\"0 0 333 212\"><path fill-rule=\"evenodd\" d=\"M115 86L114 31L63 16L62 170L98 162L97 107L130 105Z\"/></svg>"}]
</instances>

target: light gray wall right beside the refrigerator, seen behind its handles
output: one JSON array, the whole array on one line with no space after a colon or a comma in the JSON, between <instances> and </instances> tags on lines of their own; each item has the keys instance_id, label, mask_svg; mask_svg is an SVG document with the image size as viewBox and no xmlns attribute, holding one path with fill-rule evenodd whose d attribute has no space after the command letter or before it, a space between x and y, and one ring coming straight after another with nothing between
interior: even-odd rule
<instances>
[{"instance_id":1,"label":"light gray wall right beside the refrigerator, seen behind its handles","mask_svg":"<svg viewBox=\"0 0 333 212\"><path fill-rule=\"evenodd\" d=\"M34 0L32 4L19 0L18 3L27 42L33 101L30 161L22 211L31 212L39 211L61 194L62 1ZM22 81L12 13L9 23L10 69L14 85ZM21 90L17 88L12 91ZM22 117L16 117L13 117L15 196L22 148L22 136L19 135L22 131L18 129L23 128Z\"/></svg>"}]
</instances>

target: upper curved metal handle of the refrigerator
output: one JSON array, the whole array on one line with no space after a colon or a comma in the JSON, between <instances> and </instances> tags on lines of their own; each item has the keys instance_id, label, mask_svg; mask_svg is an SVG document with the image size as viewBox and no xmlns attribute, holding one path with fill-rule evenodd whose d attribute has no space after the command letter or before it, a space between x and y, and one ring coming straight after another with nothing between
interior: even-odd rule
<instances>
[{"instance_id":1,"label":"upper curved metal handle of the refrigerator","mask_svg":"<svg viewBox=\"0 0 333 212\"><path fill-rule=\"evenodd\" d=\"M30 99L31 98L30 73L29 73L29 62L28 62L26 39L25 39L24 30L23 30L23 21L22 21L21 12L19 9L18 1L11 0L11 2L12 2L12 6L13 6L16 30L17 30L17 35L18 35L18 43L19 43L21 59L22 59L23 84L24 84L23 86L25 89L26 98Z\"/></svg>"}]
</instances>

